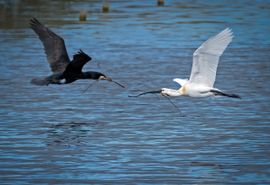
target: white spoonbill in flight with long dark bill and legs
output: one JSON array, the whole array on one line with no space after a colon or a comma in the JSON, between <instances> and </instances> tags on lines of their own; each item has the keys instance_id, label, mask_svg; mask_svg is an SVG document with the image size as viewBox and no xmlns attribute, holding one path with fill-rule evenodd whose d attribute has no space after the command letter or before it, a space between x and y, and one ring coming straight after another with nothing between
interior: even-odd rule
<instances>
[{"instance_id":1,"label":"white spoonbill in flight with long dark bill and legs","mask_svg":"<svg viewBox=\"0 0 270 185\"><path fill-rule=\"evenodd\" d=\"M138 97L148 93L160 93L163 96L190 96L190 97L208 97L208 96L227 96L231 98L240 98L236 94L225 93L214 88L219 57L232 41L233 33L231 29L226 28L214 37L205 41L194 53L193 64L190 78L175 78L181 88L168 89L162 88L157 91L148 91L133 97Z\"/></svg>"}]
</instances>

